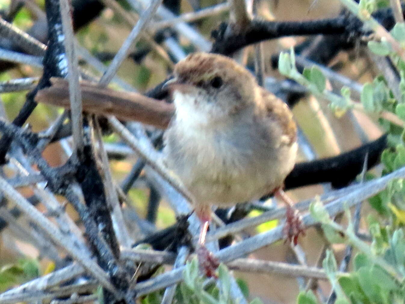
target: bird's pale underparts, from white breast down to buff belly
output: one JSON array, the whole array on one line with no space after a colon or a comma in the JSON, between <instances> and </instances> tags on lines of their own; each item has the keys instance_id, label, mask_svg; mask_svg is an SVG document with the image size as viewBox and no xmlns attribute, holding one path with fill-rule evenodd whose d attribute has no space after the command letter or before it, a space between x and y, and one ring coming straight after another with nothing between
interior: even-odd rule
<instances>
[{"instance_id":1,"label":"bird's pale underparts, from white breast down to buff belly","mask_svg":"<svg viewBox=\"0 0 405 304\"><path fill-rule=\"evenodd\" d=\"M282 185L294 166L297 145L279 145L271 138L252 142L254 128L249 123L225 130L196 128L192 121L172 123L165 134L166 163L194 204L233 205Z\"/></svg>"}]
</instances>

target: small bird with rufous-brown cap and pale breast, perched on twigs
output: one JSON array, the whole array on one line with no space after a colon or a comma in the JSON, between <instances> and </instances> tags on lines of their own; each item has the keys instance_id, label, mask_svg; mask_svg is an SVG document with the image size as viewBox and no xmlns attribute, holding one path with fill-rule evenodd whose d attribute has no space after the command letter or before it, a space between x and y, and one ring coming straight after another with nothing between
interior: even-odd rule
<instances>
[{"instance_id":1,"label":"small bird with rufous-brown cap and pale breast, perched on twigs","mask_svg":"<svg viewBox=\"0 0 405 304\"><path fill-rule=\"evenodd\" d=\"M287 203L285 232L296 243L301 223L281 189L297 153L287 104L222 55L193 53L176 64L173 75L166 83L175 117L164 137L165 161L192 195L203 223L200 247L212 205L229 207L268 193Z\"/></svg>"}]
</instances>

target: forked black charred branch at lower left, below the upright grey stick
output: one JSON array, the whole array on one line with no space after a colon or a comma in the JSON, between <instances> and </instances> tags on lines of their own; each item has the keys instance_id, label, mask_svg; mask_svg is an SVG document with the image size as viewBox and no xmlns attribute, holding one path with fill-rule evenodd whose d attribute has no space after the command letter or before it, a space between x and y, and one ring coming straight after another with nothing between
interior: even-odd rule
<instances>
[{"instance_id":1,"label":"forked black charred branch at lower left, below the upright grey stick","mask_svg":"<svg viewBox=\"0 0 405 304\"><path fill-rule=\"evenodd\" d=\"M53 193L65 196L73 204L85 225L86 234L98 264L110 274L111 282L117 289L127 291L130 277L118 262L119 245L107 207L102 178L97 170L90 145L85 146L80 164L77 160L70 159L63 166L52 168L36 147L38 136L35 133L1 120L0 132L3 137L7 136L15 140L28 159L38 166L41 175L47 181L47 187ZM71 186L74 183L79 183L81 186L85 205L72 191ZM15 216L18 215L18 213L15 214ZM104 295L109 303L116 302L108 291L104 291Z\"/></svg>"}]
</instances>

